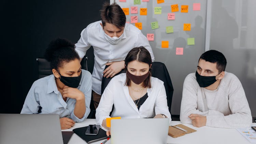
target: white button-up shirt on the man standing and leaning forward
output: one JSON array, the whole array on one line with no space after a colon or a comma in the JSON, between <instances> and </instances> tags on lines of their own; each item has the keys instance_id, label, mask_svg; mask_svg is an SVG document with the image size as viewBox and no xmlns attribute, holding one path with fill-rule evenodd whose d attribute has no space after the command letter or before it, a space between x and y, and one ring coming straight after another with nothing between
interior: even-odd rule
<instances>
[{"instance_id":1,"label":"white button-up shirt on the man standing and leaning forward","mask_svg":"<svg viewBox=\"0 0 256 144\"><path fill-rule=\"evenodd\" d=\"M105 40L100 23L102 22L91 23L81 32L81 38L75 44L75 50L80 58L83 58L90 46L93 46L95 58L92 89L101 95L101 80L106 63L125 60L128 52L139 46L144 46L150 52L152 62L155 58L147 38L137 27L126 23L122 40L116 45L111 45Z\"/></svg>"}]
</instances>

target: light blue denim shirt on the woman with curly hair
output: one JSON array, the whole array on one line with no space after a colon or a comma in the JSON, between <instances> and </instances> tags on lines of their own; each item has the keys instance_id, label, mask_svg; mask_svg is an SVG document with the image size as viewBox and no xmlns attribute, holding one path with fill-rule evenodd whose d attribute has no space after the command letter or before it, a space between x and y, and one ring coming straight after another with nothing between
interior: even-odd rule
<instances>
[{"instance_id":1,"label":"light blue denim shirt on the woman with curly hair","mask_svg":"<svg viewBox=\"0 0 256 144\"><path fill-rule=\"evenodd\" d=\"M75 122L84 121L90 113L91 101L91 73L82 69L82 78L77 87L85 95L86 111L84 116L80 119L74 115L74 107L76 100L67 98L63 100L59 92L55 76L49 75L35 81L31 86L26 100L24 102L21 114L38 114L41 106L40 114L58 114L59 117L68 117Z\"/></svg>"}]
</instances>

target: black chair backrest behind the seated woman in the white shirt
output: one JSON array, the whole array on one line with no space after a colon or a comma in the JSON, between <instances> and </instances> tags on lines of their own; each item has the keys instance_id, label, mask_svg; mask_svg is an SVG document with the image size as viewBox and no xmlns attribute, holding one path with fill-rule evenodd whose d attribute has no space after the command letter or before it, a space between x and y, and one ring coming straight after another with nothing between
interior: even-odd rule
<instances>
[{"instance_id":1,"label":"black chair backrest behind the seated woman in the white shirt","mask_svg":"<svg viewBox=\"0 0 256 144\"><path fill-rule=\"evenodd\" d=\"M105 69L108 66L105 67ZM120 73L126 73L125 69L120 71ZM169 112L171 113L171 104L172 104L172 95L173 95L173 86L172 81L169 75L169 72L162 62L153 62L152 63L152 70L151 70L152 76L158 78L159 80L163 81L163 85L165 86L166 96L167 96L167 105L169 107ZM116 75L118 75L116 74ZM110 80L112 78L106 78L102 77L102 83L101 83L101 94L103 93L106 86L109 84Z\"/></svg>"}]
</instances>

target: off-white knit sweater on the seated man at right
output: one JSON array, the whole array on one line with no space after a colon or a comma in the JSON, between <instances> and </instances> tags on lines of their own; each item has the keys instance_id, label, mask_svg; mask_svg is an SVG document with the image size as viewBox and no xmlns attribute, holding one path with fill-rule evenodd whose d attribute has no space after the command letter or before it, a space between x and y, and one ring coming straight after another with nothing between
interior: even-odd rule
<instances>
[{"instance_id":1,"label":"off-white knit sweater on the seated man at right","mask_svg":"<svg viewBox=\"0 0 256 144\"><path fill-rule=\"evenodd\" d=\"M215 90L201 88L195 73L185 78L180 120L191 124L190 114L206 116L206 126L218 128L246 128L252 125L251 110L239 79L225 72Z\"/></svg>"}]
</instances>

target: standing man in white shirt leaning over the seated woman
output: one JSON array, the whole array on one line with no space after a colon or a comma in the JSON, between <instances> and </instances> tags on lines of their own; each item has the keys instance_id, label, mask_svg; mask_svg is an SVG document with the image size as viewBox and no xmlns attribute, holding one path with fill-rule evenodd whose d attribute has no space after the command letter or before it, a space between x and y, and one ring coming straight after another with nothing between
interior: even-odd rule
<instances>
[{"instance_id":1,"label":"standing man in white shirt leaning over the seated woman","mask_svg":"<svg viewBox=\"0 0 256 144\"><path fill-rule=\"evenodd\" d=\"M144 46L154 61L147 38L137 27L126 23L125 13L116 3L103 4L101 20L89 24L81 32L81 38L75 46L81 60L90 46L94 48L92 93L95 109L101 98L102 76L113 77L124 69L125 57L133 47ZM109 67L105 69L106 66Z\"/></svg>"}]
</instances>

